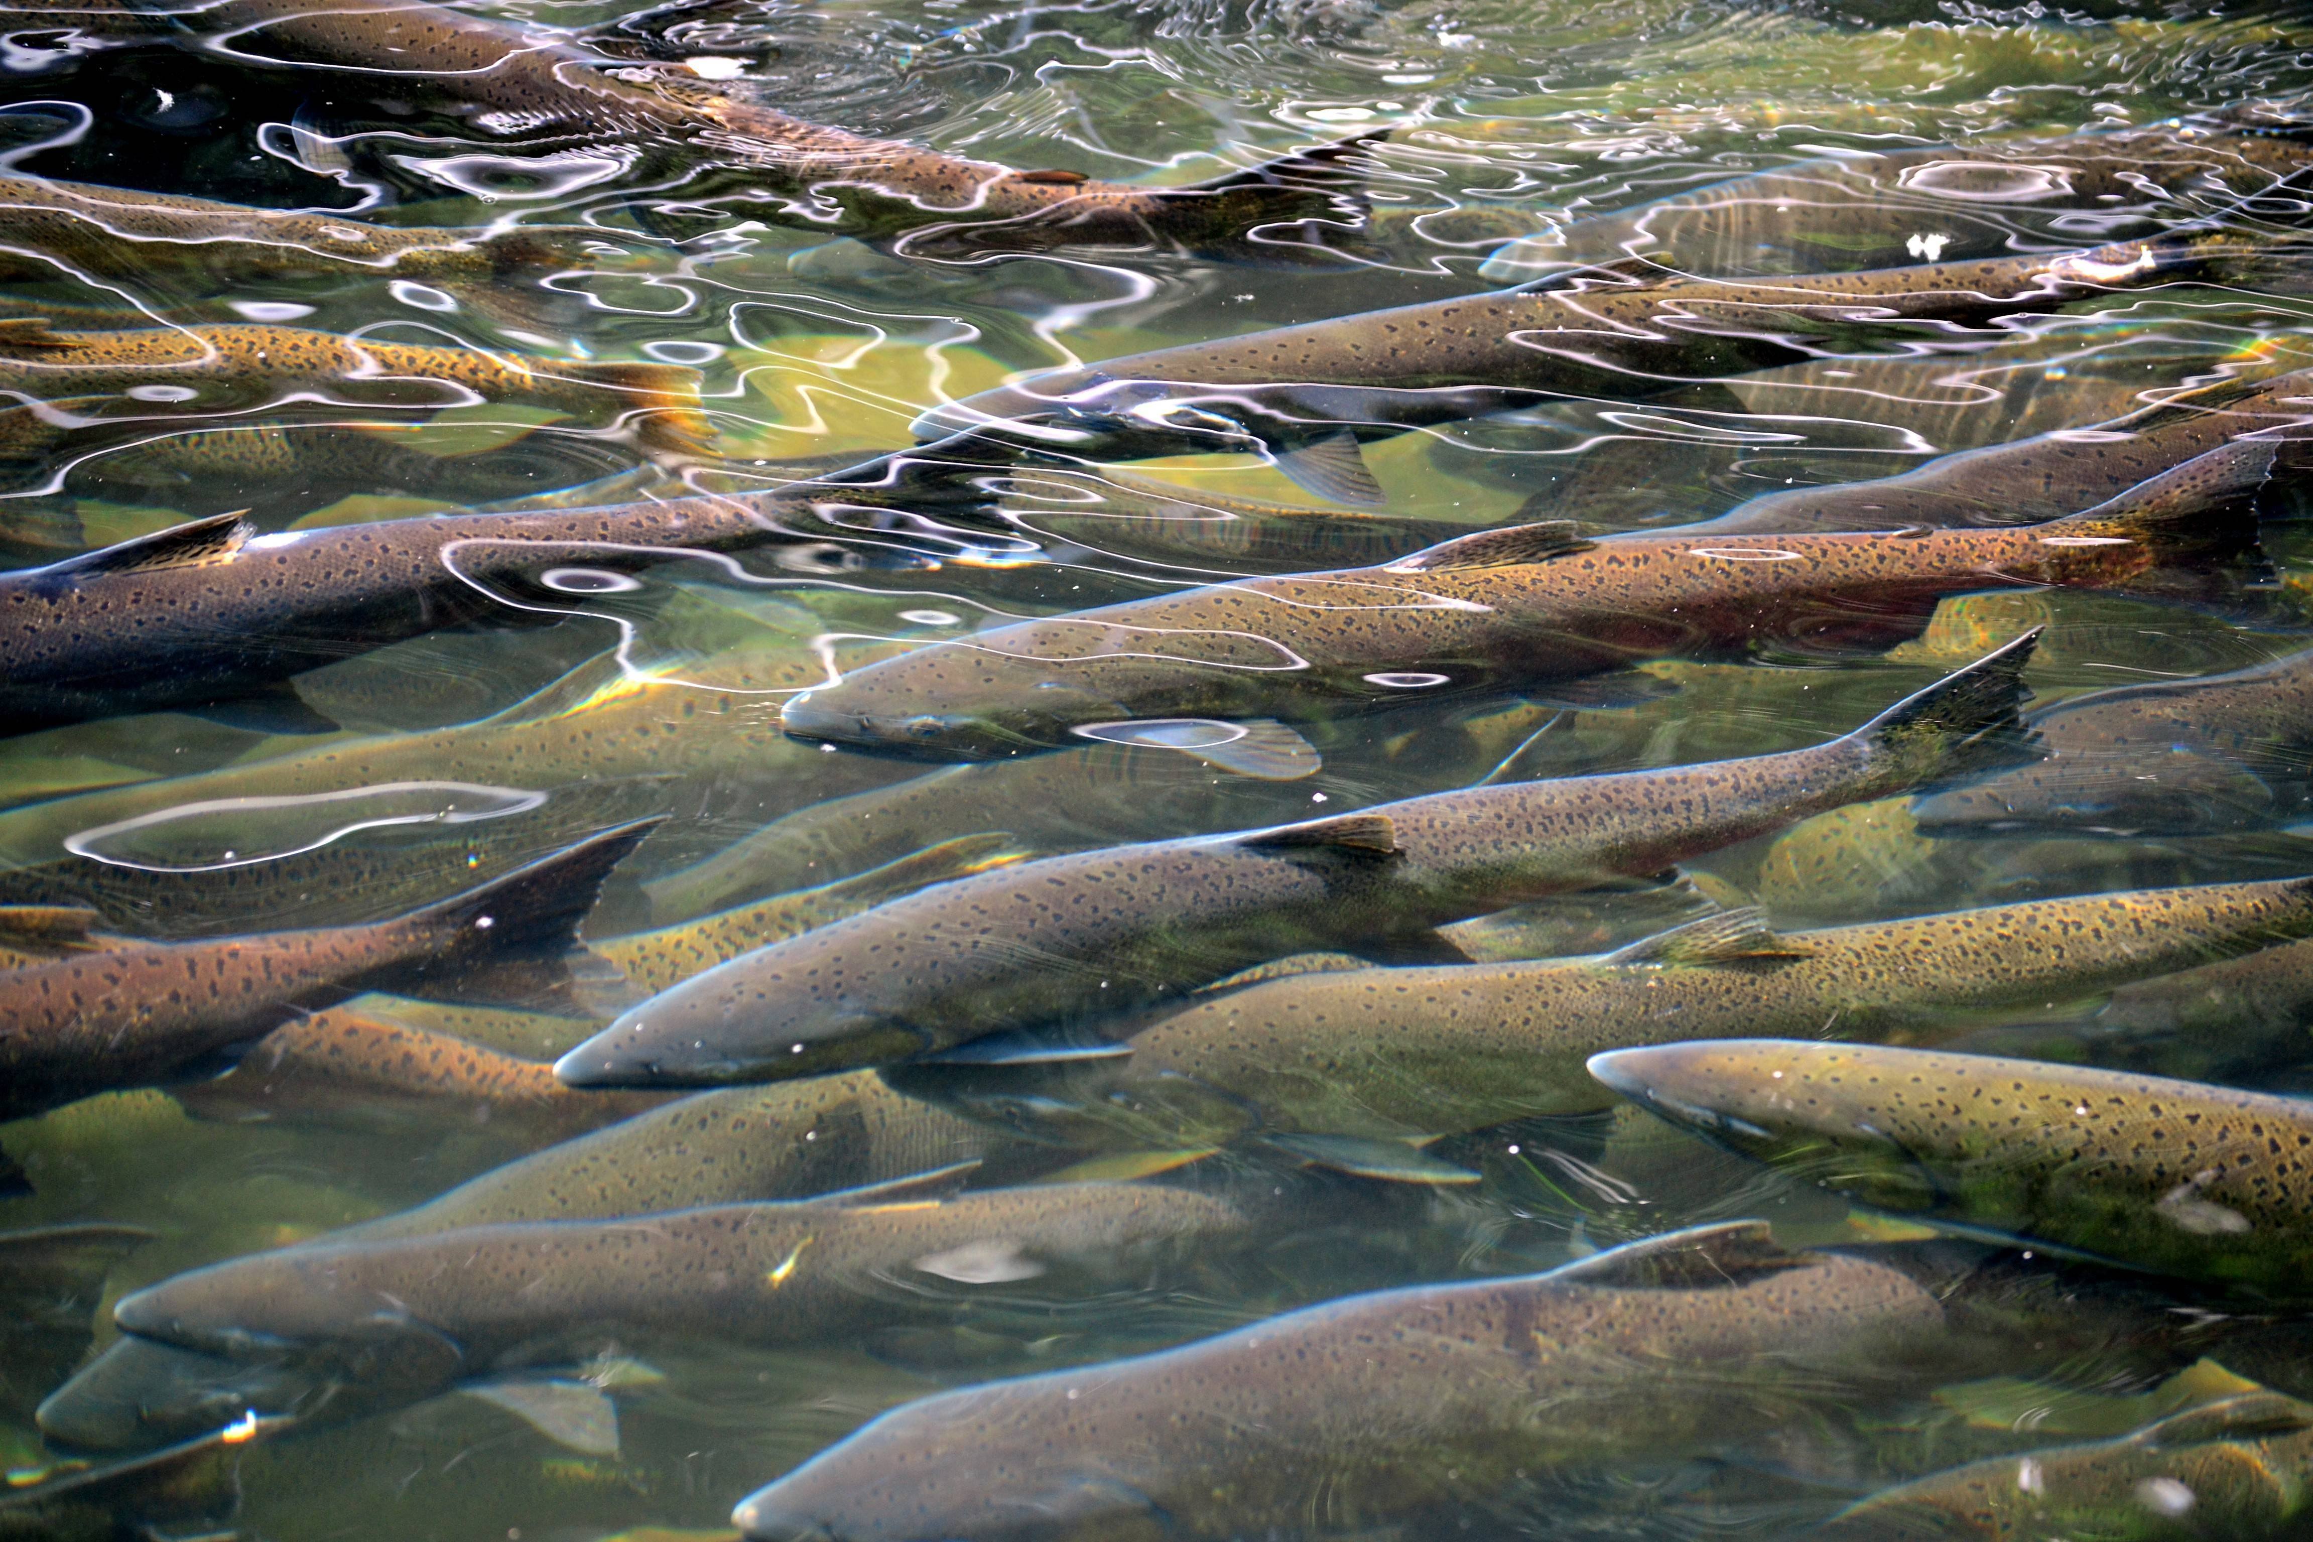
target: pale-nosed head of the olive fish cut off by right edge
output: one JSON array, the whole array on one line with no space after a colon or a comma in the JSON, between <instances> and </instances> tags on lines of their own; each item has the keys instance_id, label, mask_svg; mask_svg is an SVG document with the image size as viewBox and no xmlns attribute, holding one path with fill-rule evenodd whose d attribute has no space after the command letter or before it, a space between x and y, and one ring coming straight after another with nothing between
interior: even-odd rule
<instances>
[{"instance_id":1,"label":"pale-nosed head of the olive fish cut off by right edge","mask_svg":"<svg viewBox=\"0 0 2313 1542\"><path fill-rule=\"evenodd\" d=\"M1869 1045L1716 1038L1608 1050L1589 1073L1631 1103L1864 1204L1938 1209L1945 1184L1874 1121ZM1862 1063L1860 1063L1862 1061Z\"/></svg>"}]
</instances>

